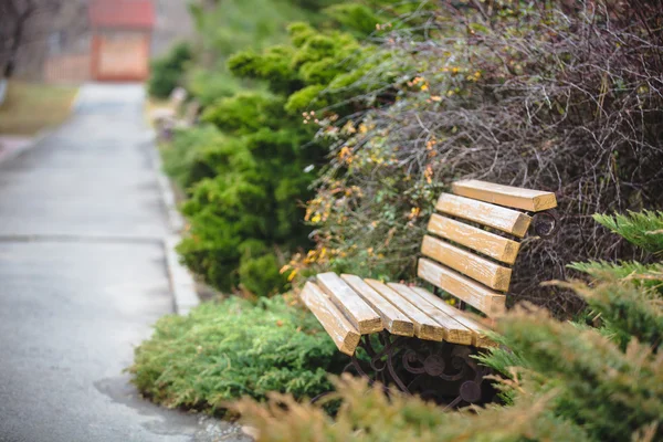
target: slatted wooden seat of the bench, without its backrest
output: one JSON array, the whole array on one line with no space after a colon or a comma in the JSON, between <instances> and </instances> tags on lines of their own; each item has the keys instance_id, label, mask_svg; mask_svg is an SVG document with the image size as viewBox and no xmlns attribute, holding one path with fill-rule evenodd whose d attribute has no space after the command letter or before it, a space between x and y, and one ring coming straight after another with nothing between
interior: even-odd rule
<instances>
[{"instance_id":1,"label":"slatted wooden seat of the bench, without its backrest","mask_svg":"<svg viewBox=\"0 0 663 442\"><path fill-rule=\"evenodd\" d=\"M486 325L421 287L323 273L306 283L301 297L338 349L349 356L362 335L382 329L480 348L495 345L486 336Z\"/></svg>"}]
</instances>

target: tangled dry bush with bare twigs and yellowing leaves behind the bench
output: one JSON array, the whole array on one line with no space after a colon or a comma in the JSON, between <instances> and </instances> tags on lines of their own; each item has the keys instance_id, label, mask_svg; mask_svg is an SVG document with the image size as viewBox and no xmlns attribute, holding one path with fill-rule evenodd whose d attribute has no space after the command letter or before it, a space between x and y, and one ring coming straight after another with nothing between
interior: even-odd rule
<instances>
[{"instance_id":1,"label":"tangled dry bush with bare twigs and yellowing leaves behind the bench","mask_svg":"<svg viewBox=\"0 0 663 442\"><path fill-rule=\"evenodd\" d=\"M337 150L309 261L410 277L435 197L465 177L558 197L561 231L526 242L518 301L572 313L578 297L539 283L571 261L646 261L591 214L663 208L663 1L440 2L414 21L360 80L375 108L323 123Z\"/></svg>"}]
</instances>

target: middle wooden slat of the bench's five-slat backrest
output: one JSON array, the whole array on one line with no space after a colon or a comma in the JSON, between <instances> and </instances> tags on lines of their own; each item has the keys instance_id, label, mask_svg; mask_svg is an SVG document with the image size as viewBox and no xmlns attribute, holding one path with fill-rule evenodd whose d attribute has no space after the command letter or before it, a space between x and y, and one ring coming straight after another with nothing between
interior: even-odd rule
<instances>
[{"instance_id":1,"label":"middle wooden slat of the bench's five-slat backrest","mask_svg":"<svg viewBox=\"0 0 663 442\"><path fill-rule=\"evenodd\" d=\"M428 230L507 264L516 262L516 256L520 250L520 243L516 241L438 213L431 215Z\"/></svg>"}]
</instances>

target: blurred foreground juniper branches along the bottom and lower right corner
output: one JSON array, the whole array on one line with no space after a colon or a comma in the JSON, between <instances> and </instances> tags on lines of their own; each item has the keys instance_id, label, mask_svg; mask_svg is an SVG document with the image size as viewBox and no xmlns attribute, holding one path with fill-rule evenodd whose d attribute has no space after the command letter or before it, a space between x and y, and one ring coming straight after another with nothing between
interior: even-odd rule
<instances>
[{"instance_id":1,"label":"blurred foreground juniper branches along the bottom and lower right corner","mask_svg":"<svg viewBox=\"0 0 663 442\"><path fill-rule=\"evenodd\" d=\"M586 320L559 322L535 307L497 323L498 347L481 358L502 373L505 406L460 412L417 398L388 398L380 387L337 380L338 414L271 394L234 409L259 441L656 441L663 436L663 212L597 217L646 245L646 270L633 262L582 267L591 282L557 283L588 304ZM643 222L644 221L644 222ZM635 233L635 234L633 234ZM646 284L644 284L646 282Z\"/></svg>"}]
</instances>

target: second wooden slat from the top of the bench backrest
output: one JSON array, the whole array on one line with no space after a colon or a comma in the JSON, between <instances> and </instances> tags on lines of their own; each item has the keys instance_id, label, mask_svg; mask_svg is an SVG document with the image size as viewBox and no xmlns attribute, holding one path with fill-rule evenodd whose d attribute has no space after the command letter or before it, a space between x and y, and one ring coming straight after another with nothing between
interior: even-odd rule
<instances>
[{"instance_id":1,"label":"second wooden slat from the top of the bench backrest","mask_svg":"<svg viewBox=\"0 0 663 442\"><path fill-rule=\"evenodd\" d=\"M506 209L487 202L442 193L435 206L441 212L488 225L503 232L523 238L532 218L517 210Z\"/></svg>"}]
</instances>

